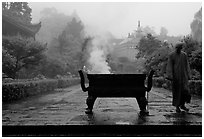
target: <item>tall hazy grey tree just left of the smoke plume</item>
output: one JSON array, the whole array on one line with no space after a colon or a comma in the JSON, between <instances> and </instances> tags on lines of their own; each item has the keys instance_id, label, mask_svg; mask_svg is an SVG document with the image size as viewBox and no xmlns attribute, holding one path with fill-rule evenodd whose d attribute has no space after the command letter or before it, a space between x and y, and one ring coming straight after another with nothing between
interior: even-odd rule
<instances>
[{"instance_id":1,"label":"tall hazy grey tree just left of the smoke plume","mask_svg":"<svg viewBox=\"0 0 204 139\"><path fill-rule=\"evenodd\" d=\"M84 26L81 21L73 18L58 38L53 39L47 56L52 57L55 61L60 61L60 64L63 65L63 71L78 74L78 69L84 65L83 54L90 39L85 37ZM61 72L61 75L63 73L65 72Z\"/></svg>"}]
</instances>

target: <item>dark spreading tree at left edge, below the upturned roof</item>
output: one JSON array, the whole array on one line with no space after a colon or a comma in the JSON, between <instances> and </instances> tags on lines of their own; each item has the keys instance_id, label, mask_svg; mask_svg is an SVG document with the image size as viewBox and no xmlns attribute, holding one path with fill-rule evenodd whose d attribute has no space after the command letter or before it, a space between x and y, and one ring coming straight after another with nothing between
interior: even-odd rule
<instances>
[{"instance_id":1,"label":"dark spreading tree at left edge, below the upturned roof","mask_svg":"<svg viewBox=\"0 0 204 139\"><path fill-rule=\"evenodd\" d=\"M18 78L17 73L22 68L38 65L46 50L41 43L21 36L3 36L2 47L2 70L11 78Z\"/></svg>"}]
</instances>

